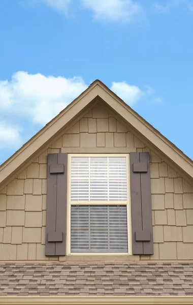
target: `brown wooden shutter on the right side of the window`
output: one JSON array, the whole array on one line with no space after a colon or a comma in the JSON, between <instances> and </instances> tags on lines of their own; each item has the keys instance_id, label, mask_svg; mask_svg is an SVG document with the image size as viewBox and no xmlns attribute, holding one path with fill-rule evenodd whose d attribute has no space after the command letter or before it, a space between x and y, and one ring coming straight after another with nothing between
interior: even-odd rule
<instances>
[{"instance_id":1,"label":"brown wooden shutter on the right side of the window","mask_svg":"<svg viewBox=\"0 0 193 305\"><path fill-rule=\"evenodd\" d=\"M130 154L133 254L153 254L149 153Z\"/></svg>"}]
</instances>

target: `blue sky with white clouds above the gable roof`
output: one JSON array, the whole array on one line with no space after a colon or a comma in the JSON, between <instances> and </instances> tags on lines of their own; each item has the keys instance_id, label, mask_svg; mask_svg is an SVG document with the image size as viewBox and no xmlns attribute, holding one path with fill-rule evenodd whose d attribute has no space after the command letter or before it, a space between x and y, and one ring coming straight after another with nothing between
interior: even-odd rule
<instances>
[{"instance_id":1,"label":"blue sky with white clouds above the gable roof","mask_svg":"<svg viewBox=\"0 0 193 305\"><path fill-rule=\"evenodd\" d=\"M100 79L193 159L193 0L0 2L0 164Z\"/></svg>"}]
</instances>

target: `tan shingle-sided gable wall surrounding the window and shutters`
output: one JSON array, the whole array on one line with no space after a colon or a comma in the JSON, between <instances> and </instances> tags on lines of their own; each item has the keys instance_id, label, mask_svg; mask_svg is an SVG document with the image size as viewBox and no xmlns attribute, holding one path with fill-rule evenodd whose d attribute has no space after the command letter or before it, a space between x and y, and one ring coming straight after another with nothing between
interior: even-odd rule
<instances>
[{"instance_id":1,"label":"tan shingle-sided gable wall surrounding the window and shutters","mask_svg":"<svg viewBox=\"0 0 193 305\"><path fill-rule=\"evenodd\" d=\"M0 261L62 260L44 255L46 177L47 154L65 151L149 151L154 254L130 259L193 259L193 187L111 113L95 106L0 192Z\"/></svg>"}]
</instances>

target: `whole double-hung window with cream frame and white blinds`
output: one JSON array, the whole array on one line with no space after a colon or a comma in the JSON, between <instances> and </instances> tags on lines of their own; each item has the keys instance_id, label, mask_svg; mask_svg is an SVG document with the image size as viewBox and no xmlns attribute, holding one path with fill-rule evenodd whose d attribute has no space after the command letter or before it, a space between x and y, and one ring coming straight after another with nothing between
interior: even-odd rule
<instances>
[{"instance_id":1,"label":"whole double-hung window with cream frame and white blinds","mask_svg":"<svg viewBox=\"0 0 193 305\"><path fill-rule=\"evenodd\" d=\"M68 254L131 254L128 155L68 158Z\"/></svg>"}]
</instances>

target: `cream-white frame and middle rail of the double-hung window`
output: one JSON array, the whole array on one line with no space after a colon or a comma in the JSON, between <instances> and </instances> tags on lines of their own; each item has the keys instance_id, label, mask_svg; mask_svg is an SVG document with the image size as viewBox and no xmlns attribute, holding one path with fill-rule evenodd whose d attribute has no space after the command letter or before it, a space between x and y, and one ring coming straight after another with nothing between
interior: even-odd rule
<instances>
[{"instance_id":1,"label":"cream-white frame and middle rail of the double-hung window","mask_svg":"<svg viewBox=\"0 0 193 305\"><path fill-rule=\"evenodd\" d=\"M126 159L126 201L71 201L71 158L72 157L125 157ZM127 211L127 253L71 253L71 205L126 205ZM129 154L68 154L68 179L67 179L67 254L72 256L95 255L132 255L132 216L131 216L131 191L130 191L130 155Z\"/></svg>"}]
</instances>

